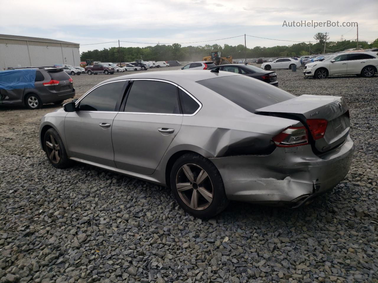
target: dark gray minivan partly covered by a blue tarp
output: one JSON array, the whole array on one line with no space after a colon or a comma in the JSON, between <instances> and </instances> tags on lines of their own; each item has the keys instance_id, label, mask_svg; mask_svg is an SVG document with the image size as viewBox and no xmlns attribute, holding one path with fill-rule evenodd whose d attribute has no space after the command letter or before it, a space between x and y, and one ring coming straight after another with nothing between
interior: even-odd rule
<instances>
[{"instance_id":1,"label":"dark gray minivan partly covered by a blue tarp","mask_svg":"<svg viewBox=\"0 0 378 283\"><path fill-rule=\"evenodd\" d=\"M0 72L0 105L61 104L75 96L72 78L61 68L20 68Z\"/></svg>"}]
</instances>

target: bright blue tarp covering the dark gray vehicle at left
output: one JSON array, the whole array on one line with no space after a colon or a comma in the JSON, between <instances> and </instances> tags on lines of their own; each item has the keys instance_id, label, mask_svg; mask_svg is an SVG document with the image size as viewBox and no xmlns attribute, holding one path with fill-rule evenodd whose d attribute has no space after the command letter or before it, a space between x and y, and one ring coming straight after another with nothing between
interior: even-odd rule
<instances>
[{"instance_id":1,"label":"bright blue tarp covering the dark gray vehicle at left","mask_svg":"<svg viewBox=\"0 0 378 283\"><path fill-rule=\"evenodd\" d=\"M34 88L36 69L6 70L0 72L0 89Z\"/></svg>"}]
</instances>

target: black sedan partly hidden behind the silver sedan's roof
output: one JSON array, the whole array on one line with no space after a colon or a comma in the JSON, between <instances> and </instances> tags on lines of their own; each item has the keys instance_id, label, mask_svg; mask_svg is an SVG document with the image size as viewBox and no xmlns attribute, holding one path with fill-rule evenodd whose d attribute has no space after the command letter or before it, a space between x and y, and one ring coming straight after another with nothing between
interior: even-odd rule
<instances>
[{"instance_id":1,"label":"black sedan partly hidden behind the silver sedan's roof","mask_svg":"<svg viewBox=\"0 0 378 283\"><path fill-rule=\"evenodd\" d=\"M209 68L209 70L214 70L219 68L218 71L233 72L237 74L243 74L251 78L257 78L266 83L269 83L274 86L278 86L277 74L272 71L265 71L256 66L245 65L245 64L228 64L228 65L219 65Z\"/></svg>"}]
</instances>

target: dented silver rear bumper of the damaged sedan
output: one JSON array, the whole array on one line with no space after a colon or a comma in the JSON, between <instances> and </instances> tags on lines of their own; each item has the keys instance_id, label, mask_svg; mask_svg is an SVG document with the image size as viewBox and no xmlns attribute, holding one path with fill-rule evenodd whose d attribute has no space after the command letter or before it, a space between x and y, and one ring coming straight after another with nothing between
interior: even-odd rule
<instances>
[{"instance_id":1,"label":"dented silver rear bumper of the damaged sedan","mask_svg":"<svg viewBox=\"0 0 378 283\"><path fill-rule=\"evenodd\" d=\"M230 200L300 206L333 189L348 173L354 152L347 136L320 156L310 145L276 148L269 155L211 158Z\"/></svg>"}]
</instances>

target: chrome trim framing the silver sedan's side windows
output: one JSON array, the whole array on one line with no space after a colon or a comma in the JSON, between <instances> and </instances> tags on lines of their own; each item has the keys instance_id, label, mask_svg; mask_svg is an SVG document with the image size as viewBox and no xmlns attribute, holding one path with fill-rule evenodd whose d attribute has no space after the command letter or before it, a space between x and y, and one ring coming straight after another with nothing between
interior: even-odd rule
<instances>
[{"instance_id":1,"label":"chrome trim framing the silver sedan's side windows","mask_svg":"<svg viewBox=\"0 0 378 283\"><path fill-rule=\"evenodd\" d=\"M186 89L182 88L181 86L177 85L177 83L174 83L174 82L170 82L170 81L167 81L167 80L161 80L161 79L158 79L158 78L127 78L127 79L122 79L122 80L114 80L114 81L111 81L111 82L106 82L106 83L102 83L101 85L98 85L98 86L95 86L93 88L91 88L89 91L87 91L82 97L80 97L76 102L75 102L75 106L77 106L77 104L84 98L86 97L88 94L90 94L91 91L95 90L96 88L99 88L100 86L103 86L103 85L106 85L108 83L114 83L114 82L125 82L125 81L140 81L140 80L147 80L147 81L156 81L156 82L164 82L164 83L170 83L171 85L174 85L176 86L177 88L180 88L183 92L185 92L187 95L189 95L189 97L191 97L195 102L197 102L198 104L198 109L193 113L193 114L169 114L169 113L144 113L144 112L122 112L122 111L77 111L77 112L81 112L81 113L84 113L84 112L87 112L87 113L124 113L124 114L149 114L149 115L169 115L169 116L194 116L195 114L198 113L198 111L201 110L202 108L202 103L197 99L195 98L191 93L189 93L188 91L186 91ZM127 102L126 102L127 103Z\"/></svg>"}]
</instances>

